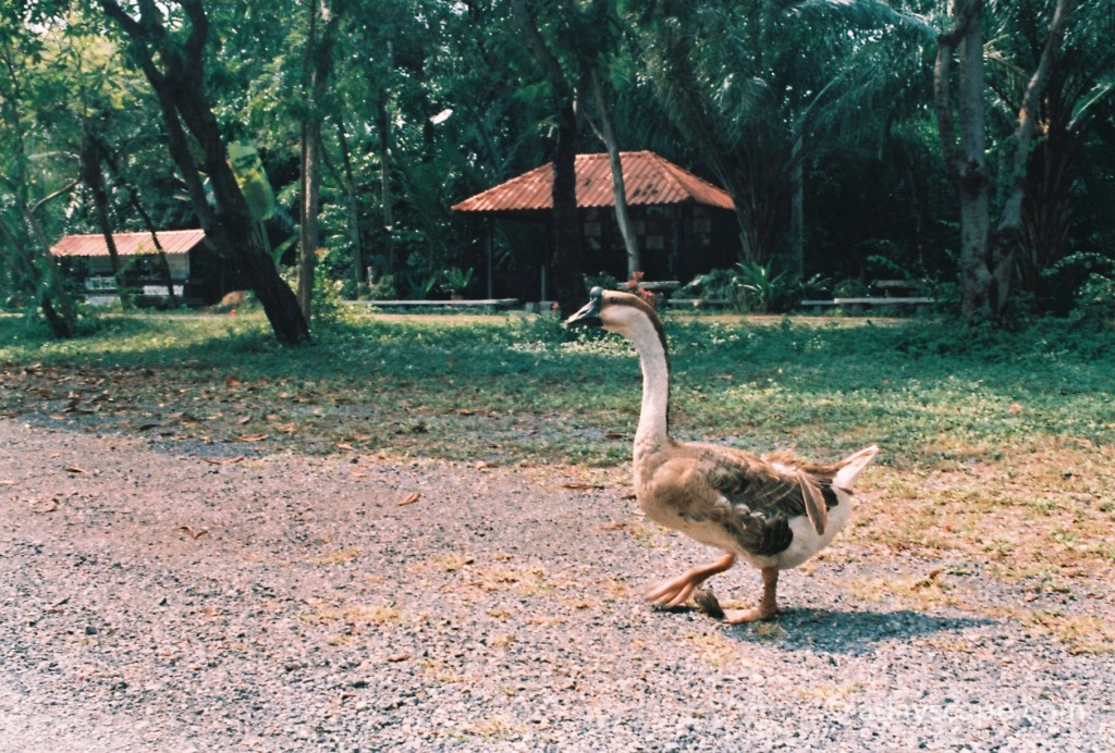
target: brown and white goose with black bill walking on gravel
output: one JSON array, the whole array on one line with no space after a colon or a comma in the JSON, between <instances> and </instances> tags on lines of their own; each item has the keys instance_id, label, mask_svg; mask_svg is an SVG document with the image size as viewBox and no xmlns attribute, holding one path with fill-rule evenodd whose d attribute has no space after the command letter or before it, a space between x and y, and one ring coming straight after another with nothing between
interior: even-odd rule
<instances>
[{"instance_id":1,"label":"brown and white goose with black bill walking on gravel","mask_svg":"<svg viewBox=\"0 0 1115 753\"><path fill-rule=\"evenodd\" d=\"M634 434L636 499L660 526L678 530L724 556L651 585L646 598L672 608L705 580L741 558L763 574L757 607L724 612L731 625L778 613L778 574L826 547L852 512L852 483L879 452L874 444L831 463L791 451L760 457L745 450L670 437L666 334L655 310L638 295L592 289L568 326L599 326L630 340L642 368L642 408ZM698 595L705 591L698 591Z\"/></svg>"}]
</instances>

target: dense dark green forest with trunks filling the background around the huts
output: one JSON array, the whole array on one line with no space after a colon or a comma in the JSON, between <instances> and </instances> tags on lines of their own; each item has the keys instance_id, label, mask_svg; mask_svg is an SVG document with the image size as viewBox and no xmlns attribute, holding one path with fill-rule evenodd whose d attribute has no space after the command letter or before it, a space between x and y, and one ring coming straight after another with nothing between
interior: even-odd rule
<instances>
[{"instance_id":1,"label":"dense dark green forest with trunks filling the background around the huts","mask_svg":"<svg viewBox=\"0 0 1115 753\"><path fill-rule=\"evenodd\" d=\"M324 295L484 270L449 206L550 160L549 258L514 223L491 253L572 300L572 155L651 149L733 196L741 264L815 294L1109 311L1113 39L1111 0L8 0L0 302L70 334L62 234L200 225L299 342Z\"/></svg>"}]
</instances>

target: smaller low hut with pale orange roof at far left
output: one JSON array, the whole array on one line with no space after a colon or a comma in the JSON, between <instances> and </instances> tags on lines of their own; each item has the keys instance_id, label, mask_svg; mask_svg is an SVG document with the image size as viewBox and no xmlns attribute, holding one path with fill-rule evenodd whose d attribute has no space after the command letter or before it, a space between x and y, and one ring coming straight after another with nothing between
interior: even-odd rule
<instances>
[{"instance_id":1,"label":"smaller low hut with pale orange roof at far left","mask_svg":"<svg viewBox=\"0 0 1115 753\"><path fill-rule=\"evenodd\" d=\"M157 305L167 295L167 271L174 295L181 303L210 304L225 290L224 265L201 229L114 233L113 241L125 285L138 293L138 302ZM159 255L162 248L166 266ZM118 297L113 262L105 236L99 233L64 236L51 248L62 270L85 290L90 303Z\"/></svg>"}]
</instances>

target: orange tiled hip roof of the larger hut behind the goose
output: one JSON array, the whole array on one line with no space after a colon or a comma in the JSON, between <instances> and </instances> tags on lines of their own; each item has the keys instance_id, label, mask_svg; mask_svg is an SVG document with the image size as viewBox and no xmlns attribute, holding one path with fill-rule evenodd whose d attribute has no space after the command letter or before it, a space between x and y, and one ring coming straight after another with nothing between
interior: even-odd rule
<instances>
[{"instance_id":1,"label":"orange tiled hip roof of the larger hut behind the goose","mask_svg":"<svg viewBox=\"0 0 1115 753\"><path fill-rule=\"evenodd\" d=\"M735 208L731 197L653 151L622 151L628 204L706 204ZM576 156L576 205L614 206L607 154ZM553 163L546 163L450 207L455 212L531 212L553 208Z\"/></svg>"}]
</instances>

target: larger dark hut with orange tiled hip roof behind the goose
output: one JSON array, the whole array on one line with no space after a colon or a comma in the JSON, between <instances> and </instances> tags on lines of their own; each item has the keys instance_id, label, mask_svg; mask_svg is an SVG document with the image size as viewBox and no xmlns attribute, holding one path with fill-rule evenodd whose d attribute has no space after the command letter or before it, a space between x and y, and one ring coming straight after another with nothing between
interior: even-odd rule
<instances>
[{"instance_id":1,"label":"larger dark hut with orange tiled hip roof behind the goose","mask_svg":"<svg viewBox=\"0 0 1115 753\"><path fill-rule=\"evenodd\" d=\"M653 151L623 151L620 160L644 278L687 281L737 261L735 207L727 193ZM603 153L582 154L575 168L584 272L626 280L627 250L615 222L611 162ZM493 219L546 223L553 213L553 164L450 209Z\"/></svg>"}]
</instances>

